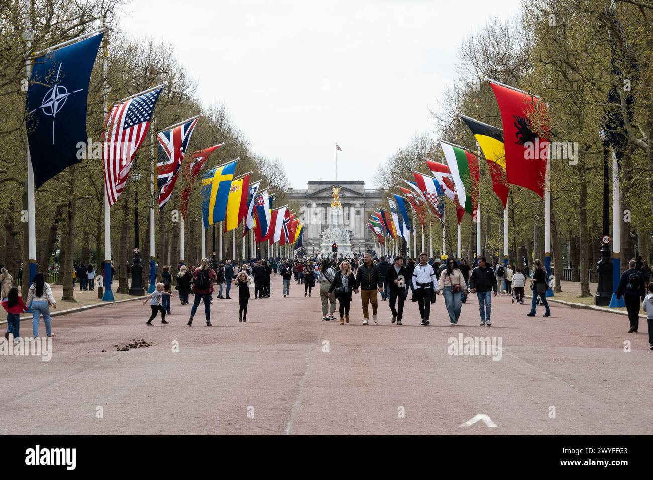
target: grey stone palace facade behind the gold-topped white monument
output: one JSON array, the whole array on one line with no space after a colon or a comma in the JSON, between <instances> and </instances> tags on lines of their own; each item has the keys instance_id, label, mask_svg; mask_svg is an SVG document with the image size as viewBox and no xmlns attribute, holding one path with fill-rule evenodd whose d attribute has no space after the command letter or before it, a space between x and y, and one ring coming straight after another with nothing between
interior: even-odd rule
<instances>
[{"instance_id":1,"label":"grey stone palace facade behind the gold-topped white monument","mask_svg":"<svg viewBox=\"0 0 653 480\"><path fill-rule=\"evenodd\" d=\"M307 189L287 191L288 203L295 207L304 221L303 246L306 253L319 252L322 232L328 227L328 210L332 202L332 187L340 189L345 228L350 231L352 251L374 248L374 235L366 221L375 206L381 203L383 192L366 189L362 180L318 180L308 182Z\"/></svg>"}]
</instances>

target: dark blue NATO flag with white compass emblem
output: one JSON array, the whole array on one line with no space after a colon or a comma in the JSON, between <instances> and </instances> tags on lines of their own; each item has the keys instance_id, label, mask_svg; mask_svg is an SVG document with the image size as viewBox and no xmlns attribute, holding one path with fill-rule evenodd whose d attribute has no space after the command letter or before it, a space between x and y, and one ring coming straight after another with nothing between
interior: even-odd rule
<instances>
[{"instance_id":1,"label":"dark blue NATO flag with white compass emblem","mask_svg":"<svg viewBox=\"0 0 653 480\"><path fill-rule=\"evenodd\" d=\"M27 99L27 142L38 187L80 163L86 145L86 110L93 63L104 34L34 59Z\"/></svg>"}]
</instances>

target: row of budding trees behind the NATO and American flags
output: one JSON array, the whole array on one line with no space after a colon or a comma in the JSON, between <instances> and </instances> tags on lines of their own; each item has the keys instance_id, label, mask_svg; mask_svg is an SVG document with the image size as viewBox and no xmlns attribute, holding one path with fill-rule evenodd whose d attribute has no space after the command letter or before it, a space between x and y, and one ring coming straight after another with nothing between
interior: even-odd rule
<instances>
[{"instance_id":1,"label":"row of budding trees behind the NATO and American flags","mask_svg":"<svg viewBox=\"0 0 653 480\"><path fill-rule=\"evenodd\" d=\"M113 21L105 34L104 48L95 63L88 93L88 135L91 142L102 140L104 121L114 101L168 82L159 97L148 135L136 154L131 172L142 179L127 183L111 209L112 257L118 267L118 292L127 293L127 264L133 249L133 199L138 192L140 248L150 251L151 161L156 154L155 132L191 116L202 114L187 156L195 150L224 141L204 168L240 157L237 174L251 170L252 180L285 201L287 176L279 159L268 159L251 150L246 134L229 117L224 104L203 105L197 98L197 82L174 54L174 46L153 39L130 38L116 23L120 0L0 0L0 217L5 236L0 238L0 263L16 273L27 261L27 210L25 64L37 52L93 31ZM31 42L30 42L31 40ZM31 43L31 44L30 44ZM208 78L206 81L210 81ZM91 155L89 155L91 156ZM38 168L38 167L37 167ZM182 170L183 171L183 170ZM102 159L84 159L48 181L36 193L37 261L46 271L52 255L59 250L61 272L71 272L74 261L99 264L104 260L104 176ZM173 210L179 210L180 192L190 179L180 176L176 191L163 212L156 214L155 246L159 265L176 264L179 255L180 225ZM199 182L191 195L185 223L187 261L201 255L202 221ZM208 232L204 232L208 234ZM242 227L236 238L242 236ZM210 245L210 242L208 242ZM210 248L210 247L209 247ZM231 251L231 235L225 235L225 251ZM148 262L145 263L148 275ZM24 268L24 284L27 281ZM59 275L63 299L74 300L72 277Z\"/></svg>"}]
</instances>

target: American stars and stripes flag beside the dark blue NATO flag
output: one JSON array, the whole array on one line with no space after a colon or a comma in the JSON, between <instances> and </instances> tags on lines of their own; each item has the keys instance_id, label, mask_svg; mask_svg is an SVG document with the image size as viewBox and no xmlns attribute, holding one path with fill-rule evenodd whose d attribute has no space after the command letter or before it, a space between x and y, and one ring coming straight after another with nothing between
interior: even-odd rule
<instances>
[{"instance_id":1,"label":"American stars and stripes flag beside the dark blue NATO flag","mask_svg":"<svg viewBox=\"0 0 653 480\"><path fill-rule=\"evenodd\" d=\"M150 127L161 88L119 103L106 116L104 130L104 188L109 206L125 188L134 154Z\"/></svg>"}]
</instances>

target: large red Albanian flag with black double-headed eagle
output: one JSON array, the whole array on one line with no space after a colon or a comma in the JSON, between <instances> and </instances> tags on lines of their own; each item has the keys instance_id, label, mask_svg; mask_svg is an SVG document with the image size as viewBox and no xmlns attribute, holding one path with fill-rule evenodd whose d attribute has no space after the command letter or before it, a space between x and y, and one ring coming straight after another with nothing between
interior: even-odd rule
<instances>
[{"instance_id":1,"label":"large red Albanian flag with black double-headed eagle","mask_svg":"<svg viewBox=\"0 0 653 480\"><path fill-rule=\"evenodd\" d=\"M544 198L549 155L549 112L539 97L488 80L503 123L508 182Z\"/></svg>"}]
</instances>

